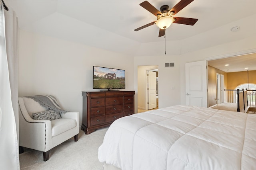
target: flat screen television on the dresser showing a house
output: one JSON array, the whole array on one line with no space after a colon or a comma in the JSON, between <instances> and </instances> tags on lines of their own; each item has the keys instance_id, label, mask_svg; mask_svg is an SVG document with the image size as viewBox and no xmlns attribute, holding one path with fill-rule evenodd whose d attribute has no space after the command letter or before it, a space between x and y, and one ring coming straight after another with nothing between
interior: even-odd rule
<instances>
[{"instance_id":1,"label":"flat screen television on the dresser showing a house","mask_svg":"<svg viewBox=\"0 0 256 170\"><path fill-rule=\"evenodd\" d=\"M93 66L93 89L125 88L125 70Z\"/></svg>"}]
</instances>

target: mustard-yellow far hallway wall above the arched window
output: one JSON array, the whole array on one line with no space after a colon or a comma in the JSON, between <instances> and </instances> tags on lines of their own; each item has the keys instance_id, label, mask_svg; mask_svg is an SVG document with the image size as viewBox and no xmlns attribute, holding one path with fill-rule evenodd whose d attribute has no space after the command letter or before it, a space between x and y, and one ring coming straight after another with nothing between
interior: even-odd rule
<instances>
[{"instance_id":1,"label":"mustard-yellow far hallway wall above the arched window","mask_svg":"<svg viewBox=\"0 0 256 170\"><path fill-rule=\"evenodd\" d=\"M240 72L228 72L228 86L227 89L235 89L241 84L248 83L247 81L247 71ZM256 84L256 70L248 71L249 83Z\"/></svg>"}]
</instances>

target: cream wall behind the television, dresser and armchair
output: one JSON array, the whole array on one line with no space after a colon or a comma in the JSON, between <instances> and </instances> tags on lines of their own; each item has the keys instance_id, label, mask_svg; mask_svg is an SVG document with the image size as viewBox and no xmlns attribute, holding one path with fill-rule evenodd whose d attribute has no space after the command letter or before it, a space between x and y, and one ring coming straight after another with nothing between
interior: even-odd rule
<instances>
[{"instance_id":1,"label":"cream wall behind the television, dresser and armchair","mask_svg":"<svg viewBox=\"0 0 256 170\"><path fill-rule=\"evenodd\" d=\"M19 45L19 96L56 96L63 109L80 112L80 125L82 91L100 91L92 89L92 66L125 70L121 90L134 90L131 56L23 30Z\"/></svg>"}]
</instances>

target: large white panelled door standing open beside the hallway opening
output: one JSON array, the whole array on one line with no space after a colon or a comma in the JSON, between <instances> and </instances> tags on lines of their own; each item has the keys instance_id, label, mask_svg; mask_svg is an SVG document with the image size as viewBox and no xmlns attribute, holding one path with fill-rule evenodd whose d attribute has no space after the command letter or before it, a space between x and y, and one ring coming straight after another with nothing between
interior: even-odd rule
<instances>
[{"instance_id":1,"label":"large white panelled door standing open beside the hallway opening","mask_svg":"<svg viewBox=\"0 0 256 170\"><path fill-rule=\"evenodd\" d=\"M207 61L185 64L186 105L208 107Z\"/></svg>"}]
</instances>

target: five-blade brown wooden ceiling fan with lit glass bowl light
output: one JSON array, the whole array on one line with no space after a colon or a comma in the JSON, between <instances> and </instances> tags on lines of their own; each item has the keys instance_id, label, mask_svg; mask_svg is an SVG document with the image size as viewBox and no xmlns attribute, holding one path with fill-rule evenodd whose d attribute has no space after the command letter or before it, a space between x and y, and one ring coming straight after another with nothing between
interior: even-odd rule
<instances>
[{"instance_id":1,"label":"five-blade brown wooden ceiling fan with lit glass bowl light","mask_svg":"<svg viewBox=\"0 0 256 170\"><path fill-rule=\"evenodd\" d=\"M139 27L137 29L134 29L134 31L139 31L140 29L146 28L150 25L156 24L160 30L158 37L162 37L165 35L165 29L170 27L172 23L180 23L185 25L194 25L198 19L194 18L183 18L183 17L173 17L175 14L177 14L180 10L185 8L188 4L190 4L194 0L181 0L176 4L172 9L169 9L168 5L163 5L160 8L160 11L157 10L154 6L152 6L148 1L144 1L140 3L140 6L151 12L157 17L156 21L150 22L146 25L143 25L142 27Z\"/></svg>"}]
</instances>

